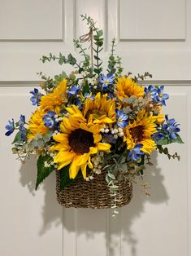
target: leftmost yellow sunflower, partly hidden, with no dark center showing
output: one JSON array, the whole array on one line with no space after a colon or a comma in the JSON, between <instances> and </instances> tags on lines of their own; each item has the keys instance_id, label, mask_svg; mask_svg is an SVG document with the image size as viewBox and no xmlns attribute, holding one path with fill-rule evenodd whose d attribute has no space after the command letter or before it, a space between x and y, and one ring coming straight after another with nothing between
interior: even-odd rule
<instances>
[{"instance_id":1,"label":"leftmost yellow sunflower, partly hidden, with no dark center showing","mask_svg":"<svg viewBox=\"0 0 191 256\"><path fill-rule=\"evenodd\" d=\"M42 117L45 115L44 111L41 111L41 109L37 108L35 113L31 116L28 123L28 139L34 139L35 135L45 135L46 131L48 130L48 127L44 125L44 121L42 120Z\"/></svg>"}]
</instances>

